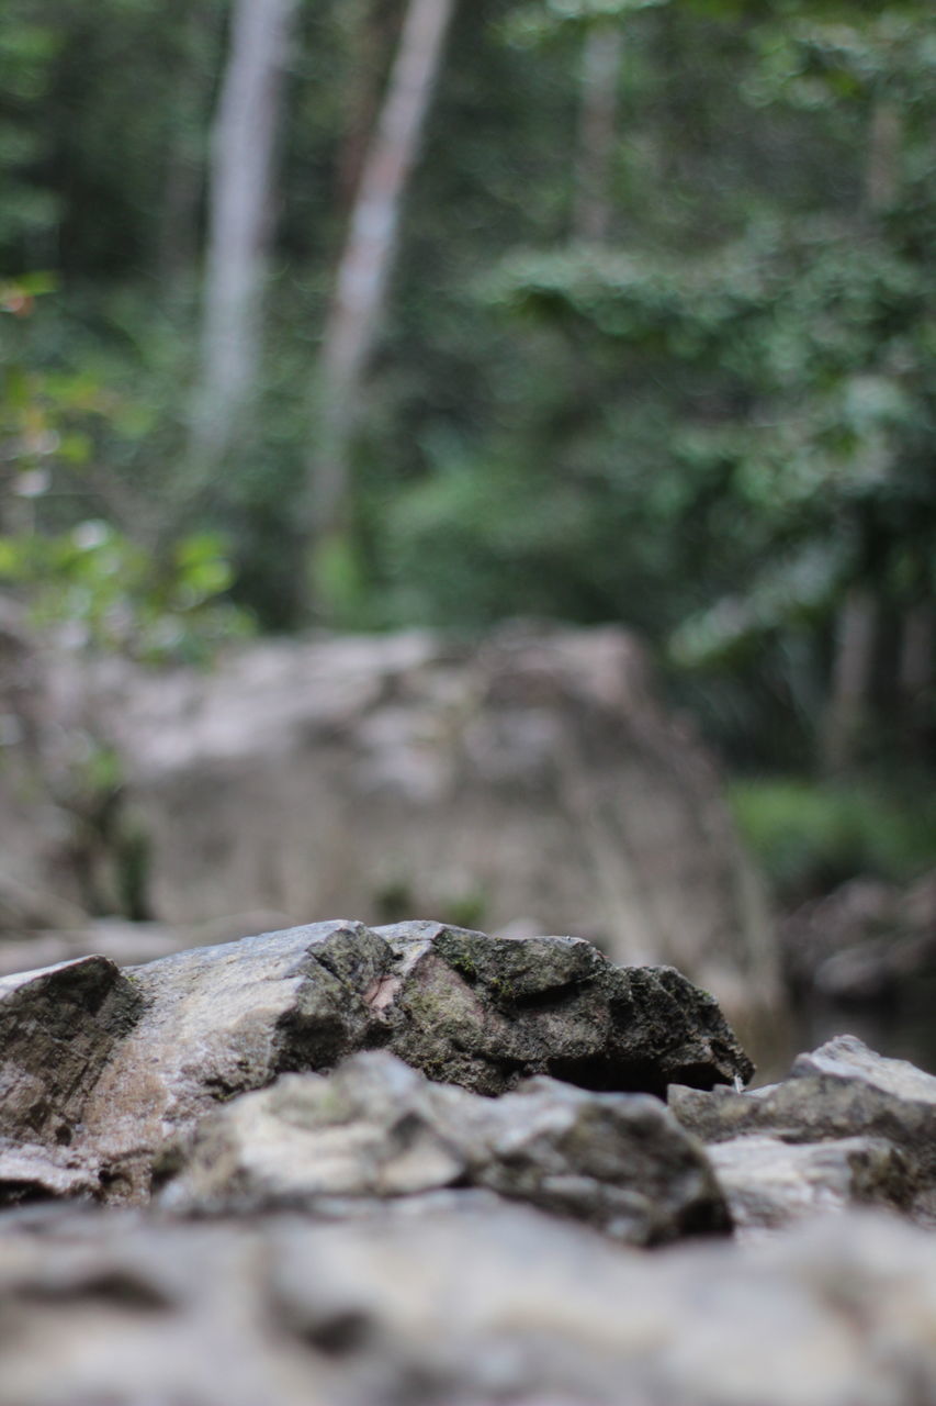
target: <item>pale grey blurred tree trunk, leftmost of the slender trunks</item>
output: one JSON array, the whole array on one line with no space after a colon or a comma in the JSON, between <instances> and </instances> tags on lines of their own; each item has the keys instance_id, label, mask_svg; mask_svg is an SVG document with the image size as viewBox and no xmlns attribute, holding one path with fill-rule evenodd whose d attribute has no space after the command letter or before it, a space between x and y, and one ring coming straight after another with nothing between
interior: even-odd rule
<instances>
[{"instance_id":1,"label":"pale grey blurred tree trunk, leftmost of the slender trunks","mask_svg":"<svg viewBox=\"0 0 936 1406\"><path fill-rule=\"evenodd\" d=\"M204 481L243 425L260 360L273 167L297 0L236 0L211 150L208 252L191 457Z\"/></svg>"}]
</instances>

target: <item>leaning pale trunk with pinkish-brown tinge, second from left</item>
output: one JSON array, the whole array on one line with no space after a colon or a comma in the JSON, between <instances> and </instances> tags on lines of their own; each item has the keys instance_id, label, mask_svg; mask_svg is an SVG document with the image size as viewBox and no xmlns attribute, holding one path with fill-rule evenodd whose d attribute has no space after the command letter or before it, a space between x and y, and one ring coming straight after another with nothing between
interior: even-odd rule
<instances>
[{"instance_id":1,"label":"leaning pale trunk with pinkish-brown tinge, second from left","mask_svg":"<svg viewBox=\"0 0 936 1406\"><path fill-rule=\"evenodd\" d=\"M315 447L304 505L312 592L320 551L344 526L349 456L364 374L379 332L401 208L454 10L455 0L409 0L351 209L313 387Z\"/></svg>"}]
</instances>

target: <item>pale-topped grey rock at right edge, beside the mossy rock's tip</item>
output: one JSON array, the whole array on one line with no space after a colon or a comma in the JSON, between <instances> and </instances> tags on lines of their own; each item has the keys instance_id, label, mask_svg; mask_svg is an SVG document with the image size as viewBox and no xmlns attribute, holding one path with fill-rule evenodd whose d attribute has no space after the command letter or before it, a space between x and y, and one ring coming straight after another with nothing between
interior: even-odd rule
<instances>
[{"instance_id":1,"label":"pale-topped grey rock at right edge, beside the mossy rock's tip","mask_svg":"<svg viewBox=\"0 0 936 1406\"><path fill-rule=\"evenodd\" d=\"M798 1056L780 1084L742 1094L672 1088L669 1107L710 1144L732 1213L748 1226L832 1199L880 1201L936 1223L936 1078L853 1035Z\"/></svg>"}]
</instances>

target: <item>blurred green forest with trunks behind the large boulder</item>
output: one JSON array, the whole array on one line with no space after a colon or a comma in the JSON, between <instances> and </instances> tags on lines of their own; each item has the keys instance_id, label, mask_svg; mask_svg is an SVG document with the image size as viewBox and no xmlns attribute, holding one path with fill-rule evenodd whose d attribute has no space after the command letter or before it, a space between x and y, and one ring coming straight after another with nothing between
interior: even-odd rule
<instances>
[{"instance_id":1,"label":"blurred green forest with trunks behind the large boulder","mask_svg":"<svg viewBox=\"0 0 936 1406\"><path fill-rule=\"evenodd\" d=\"M936 14L7 0L0 592L638 630L794 901L936 856Z\"/></svg>"}]
</instances>

